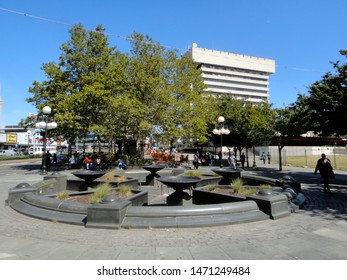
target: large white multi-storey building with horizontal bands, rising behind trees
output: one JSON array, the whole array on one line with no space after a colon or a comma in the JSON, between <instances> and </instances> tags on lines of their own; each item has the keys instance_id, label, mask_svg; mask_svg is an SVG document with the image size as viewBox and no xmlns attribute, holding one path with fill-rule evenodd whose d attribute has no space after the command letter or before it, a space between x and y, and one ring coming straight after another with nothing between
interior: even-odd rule
<instances>
[{"instance_id":1,"label":"large white multi-storey building with horizontal bands, rising behind trees","mask_svg":"<svg viewBox=\"0 0 347 280\"><path fill-rule=\"evenodd\" d=\"M195 43L188 53L201 68L208 92L231 94L253 103L269 101L269 76L275 73L274 60L198 48Z\"/></svg>"}]
</instances>

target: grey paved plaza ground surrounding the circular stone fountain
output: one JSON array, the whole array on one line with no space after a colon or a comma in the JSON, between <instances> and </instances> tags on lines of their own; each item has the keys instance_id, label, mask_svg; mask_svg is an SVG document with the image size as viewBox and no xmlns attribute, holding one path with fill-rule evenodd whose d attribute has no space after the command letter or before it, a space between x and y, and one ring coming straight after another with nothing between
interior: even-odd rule
<instances>
[{"instance_id":1,"label":"grey paved plaza ground surrounding the circular stone fountain","mask_svg":"<svg viewBox=\"0 0 347 280\"><path fill-rule=\"evenodd\" d=\"M304 209L278 220L228 226L110 230L17 213L5 203L8 190L41 181L40 160L0 162L0 259L346 260L347 172L336 171L333 194L327 195L313 169L284 166L279 172L277 165L257 164L246 172L273 178L289 174L302 182ZM60 173L71 176L70 170Z\"/></svg>"}]
</instances>

